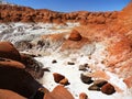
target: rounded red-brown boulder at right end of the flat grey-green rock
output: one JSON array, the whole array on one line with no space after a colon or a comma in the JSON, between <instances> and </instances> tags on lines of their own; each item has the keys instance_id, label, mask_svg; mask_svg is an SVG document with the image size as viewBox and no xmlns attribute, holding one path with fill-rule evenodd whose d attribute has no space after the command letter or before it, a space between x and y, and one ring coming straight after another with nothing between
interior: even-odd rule
<instances>
[{"instance_id":1,"label":"rounded red-brown boulder at right end of the flat grey-green rock","mask_svg":"<svg viewBox=\"0 0 132 99\"><path fill-rule=\"evenodd\" d=\"M116 92L116 89L111 84L108 82L101 87L101 92L106 95L112 95Z\"/></svg>"}]
</instances>

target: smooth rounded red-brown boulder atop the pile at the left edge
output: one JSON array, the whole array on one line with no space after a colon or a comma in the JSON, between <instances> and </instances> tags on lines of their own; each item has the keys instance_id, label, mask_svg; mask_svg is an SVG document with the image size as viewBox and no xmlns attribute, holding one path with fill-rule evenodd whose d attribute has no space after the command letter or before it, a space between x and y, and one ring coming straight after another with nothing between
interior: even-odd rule
<instances>
[{"instance_id":1,"label":"smooth rounded red-brown boulder atop the pile at the left edge","mask_svg":"<svg viewBox=\"0 0 132 99\"><path fill-rule=\"evenodd\" d=\"M0 42L0 57L21 61L19 51L10 42Z\"/></svg>"}]
</instances>

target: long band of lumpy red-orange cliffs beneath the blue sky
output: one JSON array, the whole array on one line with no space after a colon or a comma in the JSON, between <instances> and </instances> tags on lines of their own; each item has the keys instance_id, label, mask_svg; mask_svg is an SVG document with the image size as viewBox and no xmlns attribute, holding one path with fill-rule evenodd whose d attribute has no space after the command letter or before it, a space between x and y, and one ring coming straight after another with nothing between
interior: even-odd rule
<instances>
[{"instance_id":1,"label":"long band of lumpy red-orange cliffs beneath the blue sky","mask_svg":"<svg viewBox=\"0 0 132 99\"><path fill-rule=\"evenodd\" d=\"M47 9L32 9L10 4L0 4L0 22L44 22L65 24L79 22L80 24L107 24L118 18L118 11L112 12L57 12Z\"/></svg>"}]
</instances>

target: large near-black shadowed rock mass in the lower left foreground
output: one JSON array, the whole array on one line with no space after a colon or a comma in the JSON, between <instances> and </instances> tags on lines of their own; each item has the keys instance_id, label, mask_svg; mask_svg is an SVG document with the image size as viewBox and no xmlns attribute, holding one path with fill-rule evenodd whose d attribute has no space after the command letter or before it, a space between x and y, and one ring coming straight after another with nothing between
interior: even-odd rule
<instances>
[{"instance_id":1,"label":"large near-black shadowed rock mass in the lower left foreground","mask_svg":"<svg viewBox=\"0 0 132 99\"><path fill-rule=\"evenodd\" d=\"M28 72L15 67L0 66L0 89L12 90L26 98L33 98L42 87Z\"/></svg>"}]
</instances>

